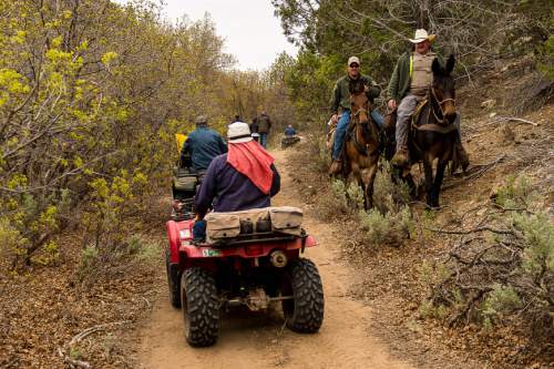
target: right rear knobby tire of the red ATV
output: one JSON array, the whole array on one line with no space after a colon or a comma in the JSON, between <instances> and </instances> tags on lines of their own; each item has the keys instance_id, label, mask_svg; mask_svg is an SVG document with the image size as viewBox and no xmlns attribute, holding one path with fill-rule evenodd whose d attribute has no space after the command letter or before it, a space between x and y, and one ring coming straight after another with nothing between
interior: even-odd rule
<instances>
[{"instance_id":1,"label":"right rear knobby tire of the red ATV","mask_svg":"<svg viewBox=\"0 0 554 369\"><path fill-rule=\"evenodd\" d=\"M324 287L316 265L308 259L293 260L285 274L281 295L287 327L299 334L314 334L324 321Z\"/></svg>"}]
</instances>

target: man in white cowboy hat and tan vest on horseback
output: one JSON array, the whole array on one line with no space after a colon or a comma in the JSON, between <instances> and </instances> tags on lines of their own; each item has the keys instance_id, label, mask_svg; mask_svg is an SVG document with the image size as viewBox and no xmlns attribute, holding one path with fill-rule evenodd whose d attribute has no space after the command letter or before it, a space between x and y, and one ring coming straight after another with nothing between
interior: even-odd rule
<instances>
[{"instance_id":1,"label":"man in white cowboy hat and tan vest on horseback","mask_svg":"<svg viewBox=\"0 0 554 369\"><path fill-rule=\"evenodd\" d=\"M418 104L427 98L429 86L433 80L431 64L438 59L441 65L444 60L431 49L434 34L428 34L425 30L416 30L416 37L410 41L413 43L412 52L402 54L392 72L389 83L389 109L393 110L398 104L398 119L396 126L397 151L391 164L397 167L408 167L408 133L410 131L410 119ZM458 139L454 150L458 152L462 168L469 165L468 154L462 146L460 136L460 114L456 116Z\"/></svg>"}]
</instances>

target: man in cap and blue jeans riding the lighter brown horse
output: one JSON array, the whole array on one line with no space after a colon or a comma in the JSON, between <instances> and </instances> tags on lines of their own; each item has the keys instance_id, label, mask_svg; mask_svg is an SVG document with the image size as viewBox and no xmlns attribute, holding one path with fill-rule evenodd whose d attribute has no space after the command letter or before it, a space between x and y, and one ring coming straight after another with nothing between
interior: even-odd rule
<instances>
[{"instance_id":1,"label":"man in cap and blue jeans riding the lighter brown horse","mask_svg":"<svg viewBox=\"0 0 554 369\"><path fill-rule=\"evenodd\" d=\"M347 75L340 78L335 84L330 100L331 120L337 121L337 130L335 131L335 144L332 147L334 162L329 170L330 174L338 174L342 168L342 145L345 144L348 123L350 122L350 92L348 85L350 81L360 79L367 86L367 95L372 103L373 99L379 96L381 89L377 86L371 78L360 73L360 60L358 57L348 59ZM340 115L340 119L339 119ZM371 110L371 119L379 125L384 126L383 117L375 109Z\"/></svg>"}]
</instances>

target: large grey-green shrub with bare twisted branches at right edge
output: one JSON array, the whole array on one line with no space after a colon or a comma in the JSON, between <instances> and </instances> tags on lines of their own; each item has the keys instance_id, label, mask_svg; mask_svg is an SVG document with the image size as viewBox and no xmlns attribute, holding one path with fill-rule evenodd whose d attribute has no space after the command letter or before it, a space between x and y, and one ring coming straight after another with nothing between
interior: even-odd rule
<instances>
[{"instance_id":1,"label":"large grey-green shrub with bare twisted branches at right edge","mask_svg":"<svg viewBox=\"0 0 554 369\"><path fill-rule=\"evenodd\" d=\"M458 273L430 285L430 300L452 308L451 322L465 317L491 330L519 321L530 335L554 336L554 222L536 199L529 177L510 177L494 198L501 209L479 219L486 229L456 238L441 264Z\"/></svg>"}]
</instances>

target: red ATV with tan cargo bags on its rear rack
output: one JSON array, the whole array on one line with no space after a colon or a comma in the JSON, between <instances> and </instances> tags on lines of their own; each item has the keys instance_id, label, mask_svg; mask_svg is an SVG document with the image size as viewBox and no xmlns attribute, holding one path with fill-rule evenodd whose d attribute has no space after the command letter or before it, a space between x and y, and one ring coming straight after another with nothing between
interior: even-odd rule
<instances>
[{"instance_id":1,"label":"red ATV with tan cargo bags on its rear rack","mask_svg":"<svg viewBox=\"0 0 554 369\"><path fill-rule=\"evenodd\" d=\"M318 331L324 320L321 279L316 265L300 257L306 247L316 246L315 238L298 224L290 227L290 218L279 225L267 216L252 217L250 212L244 218L239 213L247 212L208 214L203 243L193 242L194 221L167 222L170 300L183 307L186 340L195 347L215 344L222 308L244 305L263 311L271 303L281 304L291 330ZM230 217L211 223L213 214Z\"/></svg>"}]
</instances>

